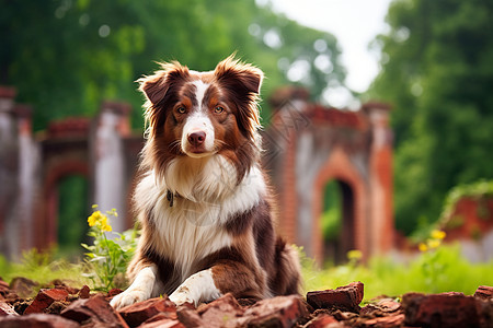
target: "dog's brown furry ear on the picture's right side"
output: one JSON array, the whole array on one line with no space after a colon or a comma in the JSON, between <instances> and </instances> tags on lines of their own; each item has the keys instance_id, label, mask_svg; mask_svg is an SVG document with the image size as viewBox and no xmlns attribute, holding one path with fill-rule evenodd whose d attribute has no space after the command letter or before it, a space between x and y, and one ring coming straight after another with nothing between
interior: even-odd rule
<instances>
[{"instance_id":1,"label":"dog's brown furry ear on the picture's right side","mask_svg":"<svg viewBox=\"0 0 493 328\"><path fill-rule=\"evenodd\" d=\"M242 63L229 56L214 71L215 79L231 94L238 108L238 122L249 138L255 138L260 127L257 101L264 73L256 67Z\"/></svg>"}]
</instances>

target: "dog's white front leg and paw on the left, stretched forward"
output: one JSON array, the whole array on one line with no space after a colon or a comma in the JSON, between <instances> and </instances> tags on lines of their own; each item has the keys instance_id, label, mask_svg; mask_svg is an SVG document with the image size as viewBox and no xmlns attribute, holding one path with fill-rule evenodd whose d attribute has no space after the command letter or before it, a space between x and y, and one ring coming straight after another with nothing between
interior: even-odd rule
<instances>
[{"instance_id":1,"label":"dog's white front leg and paw on the left, stretched forward","mask_svg":"<svg viewBox=\"0 0 493 328\"><path fill-rule=\"evenodd\" d=\"M130 286L125 292L113 297L110 304L114 308L122 308L159 295L159 289L162 283L157 278L157 273L158 268L156 265L141 269Z\"/></svg>"}]
</instances>

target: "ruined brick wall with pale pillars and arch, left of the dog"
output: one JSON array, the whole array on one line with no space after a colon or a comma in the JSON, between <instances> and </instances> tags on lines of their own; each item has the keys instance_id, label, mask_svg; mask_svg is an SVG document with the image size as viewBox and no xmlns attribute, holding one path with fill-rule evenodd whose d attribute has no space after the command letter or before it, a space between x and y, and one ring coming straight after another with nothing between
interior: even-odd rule
<instances>
[{"instance_id":1,"label":"ruined brick wall with pale pillars and arch, left of the dog","mask_svg":"<svg viewBox=\"0 0 493 328\"><path fill-rule=\"evenodd\" d=\"M58 185L70 175L87 177L91 203L118 210L114 231L133 226L128 203L144 139L130 131L130 107L105 102L93 119L54 121L34 138L31 109L14 96L0 87L0 253L13 258L57 243Z\"/></svg>"}]
</instances>

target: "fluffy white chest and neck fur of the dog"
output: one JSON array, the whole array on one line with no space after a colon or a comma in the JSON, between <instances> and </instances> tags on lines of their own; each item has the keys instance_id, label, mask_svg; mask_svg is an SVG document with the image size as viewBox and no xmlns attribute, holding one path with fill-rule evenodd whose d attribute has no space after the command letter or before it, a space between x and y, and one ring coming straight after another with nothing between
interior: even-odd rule
<instances>
[{"instance_id":1,"label":"fluffy white chest and neck fur of the dog","mask_svg":"<svg viewBox=\"0 0 493 328\"><path fill-rule=\"evenodd\" d=\"M198 172L176 162L169 168L161 179L150 172L138 185L135 199L138 208L152 213L161 244L157 246L186 278L197 260L231 245L223 224L256 206L266 187L257 167L237 185L234 169L219 155L195 167ZM172 207L168 190L181 195Z\"/></svg>"}]
</instances>

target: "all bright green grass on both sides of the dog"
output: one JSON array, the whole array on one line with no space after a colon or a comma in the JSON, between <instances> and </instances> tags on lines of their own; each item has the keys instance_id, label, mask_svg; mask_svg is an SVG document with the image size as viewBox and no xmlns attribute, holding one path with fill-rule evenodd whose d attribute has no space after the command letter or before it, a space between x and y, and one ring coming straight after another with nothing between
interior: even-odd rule
<instances>
[{"instance_id":1,"label":"all bright green grass on both sides of the dog","mask_svg":"<svg viewBox=\"0 0 493 328\"><path fill-rule=\"evenodd\" d=\"M353 281L365 284L365 298L376 296L401 296L408 292L474 293L481 284L493 285L493 261L470 263L460 255L459 246L439 246L432 251L422 253L408 263L397 262L390 257L372 258L367 265L355 259L347 265L316 269L313 260L301 256L305 291L335 289ZM41 284L55 279L69 281L73 286L92 282L84 262L71 263L65 259L54 259L50 253L25 253L20 262L9 262L0 256L0 277L10 282L14 277L25 277Z\"/></svg>"}]
</instances>

